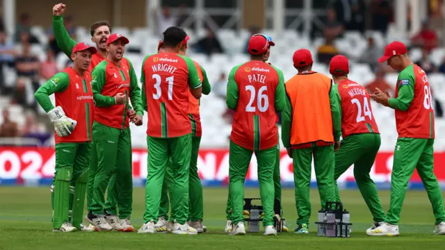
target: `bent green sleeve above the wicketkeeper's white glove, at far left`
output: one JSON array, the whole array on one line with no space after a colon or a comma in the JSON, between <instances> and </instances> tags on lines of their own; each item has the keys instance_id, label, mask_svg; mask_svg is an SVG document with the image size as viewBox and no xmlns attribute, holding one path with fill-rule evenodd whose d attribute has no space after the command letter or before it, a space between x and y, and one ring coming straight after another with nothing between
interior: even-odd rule
<instances>
[{"instance_id":1,"label":"bent green sleeve above the wicketkeeper's white glove, at far left","mask_svg":"<svg viewBox=\"0 0 445 250\"><path fill-rule=\"evenodd\" d=\"M63 92L68 88L70 84L70 77L65 72L55 74L49 81L40 86L35 92L34 97L43 110L48 113L54 108L49 96L54 92Z\"/></svg>"}]
</instances>

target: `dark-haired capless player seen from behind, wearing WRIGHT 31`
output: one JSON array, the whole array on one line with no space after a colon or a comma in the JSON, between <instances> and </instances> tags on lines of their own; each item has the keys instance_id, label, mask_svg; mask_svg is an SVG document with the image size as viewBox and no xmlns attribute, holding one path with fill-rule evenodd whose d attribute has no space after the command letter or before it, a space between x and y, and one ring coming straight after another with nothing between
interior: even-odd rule
<instances>
[{"instance_id":1,"label":"dark-haired capless player seen from behind, wearing WRIGHT 31","mask_svg":"<svg viewBox=\"0 0 445 250\"><path fill-rule=\"evenodd\" d=\"M172 161L168 184L173 222L172 233L195 235L186 222L189 213L189 167L192 154L192 122L189 93L200 99L202 83L193 60L179 55L186 33L172 26L163 33L163 52L146 56L140 81L143 106L147 106L148 174L145 188L144 224L138 233L155 233L159 218L165 169Z\"/></svg>"}]
</instances>

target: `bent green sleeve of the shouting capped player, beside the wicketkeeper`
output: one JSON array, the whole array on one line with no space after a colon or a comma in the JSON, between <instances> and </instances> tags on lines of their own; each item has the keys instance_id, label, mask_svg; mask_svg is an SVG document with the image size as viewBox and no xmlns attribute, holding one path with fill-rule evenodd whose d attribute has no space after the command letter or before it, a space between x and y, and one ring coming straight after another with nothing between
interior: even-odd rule
<instances>
[{"instance_id":1,"label":"bent green sleeve of the shouting capped player, beside the wicketkeeper","mask_svg":"<svg viewBox=\"0 0 445 250\"><path fill-rule=\"evenodd\" d=\"M92 97L95 99L96 106L109 107L115 105L114 97L108 97L101 94L105 85L105 65L99 63L91 72L92 78Z\"/></svg>"}]
</instances>

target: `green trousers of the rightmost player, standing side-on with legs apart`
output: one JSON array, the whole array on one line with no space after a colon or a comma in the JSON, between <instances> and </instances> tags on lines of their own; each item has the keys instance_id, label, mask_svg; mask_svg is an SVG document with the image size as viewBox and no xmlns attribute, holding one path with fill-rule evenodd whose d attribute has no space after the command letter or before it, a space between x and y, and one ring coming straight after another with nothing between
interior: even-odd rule
<instances>
[{"instance_id":1,"label":"green trousers of the rightmost player, standing side-on with legs apart","mask_svg":"<svg viewBox=\"0 0 445 250\"><path fill-rule=\"evenodd\" d=\"M428 193L436 224L445 222L442 191L434 174L434 139L398 138L391 174L391 206L385 222L397 225L400 220L408 181L417 169Z\"/></svg>"}]
</instances>

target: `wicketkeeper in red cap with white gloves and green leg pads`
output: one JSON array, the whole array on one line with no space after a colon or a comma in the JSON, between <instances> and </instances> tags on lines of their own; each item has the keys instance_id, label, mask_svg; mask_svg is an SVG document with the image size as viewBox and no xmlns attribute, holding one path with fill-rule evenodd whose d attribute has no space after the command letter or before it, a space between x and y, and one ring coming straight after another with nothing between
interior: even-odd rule
<instances>
[{"instance_id":1,"label":"wicketkeeper in red cap with white gloves and green leg pads","mask_svg":"<svg viewBox=\"0 0 445 250\"><path fill-rule=\"evenodd\" d=\"M96 49L86 43L76 44L71 54L73 66L54 75L34 94L56 131L56 173L51 188L53 232L95 230L81 224L93 119L91 75L87 70L95 53ZM56 108L49 100L51 94L56 97Z\"/></svg>"}]
</instances>

